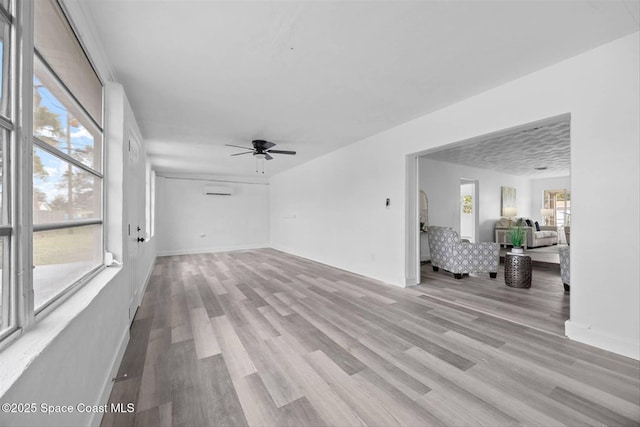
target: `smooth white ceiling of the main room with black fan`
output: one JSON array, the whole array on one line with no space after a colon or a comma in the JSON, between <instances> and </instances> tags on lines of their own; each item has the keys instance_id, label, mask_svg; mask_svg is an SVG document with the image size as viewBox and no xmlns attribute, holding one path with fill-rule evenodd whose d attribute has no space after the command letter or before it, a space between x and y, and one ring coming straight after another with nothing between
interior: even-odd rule
<instances>
[{"instance_id":1,"label":"smooth white ceiling of the main room with black fan","mask_svg":"<svg viewBox=\"0 0 640 427\"><path fill-rule=\"evenodd\" d=\"M67 0L160 174L269 176L638 31L624 1ZM74 6L75 4L75 6Z\"/></svg>"}]
</instances>

